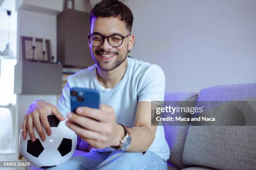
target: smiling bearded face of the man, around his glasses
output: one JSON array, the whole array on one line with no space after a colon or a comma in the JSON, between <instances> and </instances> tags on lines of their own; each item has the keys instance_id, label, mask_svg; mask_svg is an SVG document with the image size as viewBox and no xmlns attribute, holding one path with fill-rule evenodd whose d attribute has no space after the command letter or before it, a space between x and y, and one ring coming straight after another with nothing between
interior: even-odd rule
<instances>
[{"instance_id":1,"label":"smiling bearded face of the man, around his glasses","mask_svg":"<svg viewBox=\"0 0 256 170\"><path fill-rule=\"evenodd\" d=\"M126 29L125 23L118 18L94 18L91 25L91 34L100 34L102 36L110 36L119 34L122 36L128 35L130 32ZM111 71L118 67L127 57L128 50L131 50L133 45L133 35L123 39L122 45L119 47L112 47L107 38L104 43L95 47L89 42L92 59L97 66L104 71ZM131 41L132 39L132 41Z\"/></svg>"}]
</instances>

